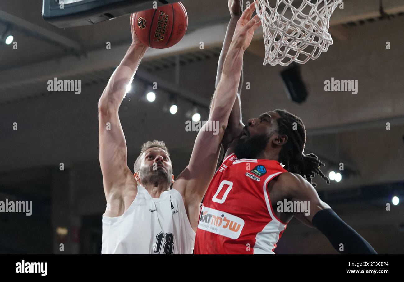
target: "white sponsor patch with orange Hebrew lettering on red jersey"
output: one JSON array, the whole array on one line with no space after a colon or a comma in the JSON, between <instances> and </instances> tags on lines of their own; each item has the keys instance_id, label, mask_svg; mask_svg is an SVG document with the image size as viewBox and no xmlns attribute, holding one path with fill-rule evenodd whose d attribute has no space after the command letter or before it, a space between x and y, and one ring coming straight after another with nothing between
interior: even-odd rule
<instances>
[{"instance_id":1,"label":"white sponsor patch with orange Hebrew lettering on red jersey","mask_svg":"<svg viewBox=\"0 0 404 282\"><path fill-rule=\"evenodd\" d=\"M244 220L235 215L202 206L198 228L231 239L237 239L244 227Z\"/></svg>"}]
</instances>

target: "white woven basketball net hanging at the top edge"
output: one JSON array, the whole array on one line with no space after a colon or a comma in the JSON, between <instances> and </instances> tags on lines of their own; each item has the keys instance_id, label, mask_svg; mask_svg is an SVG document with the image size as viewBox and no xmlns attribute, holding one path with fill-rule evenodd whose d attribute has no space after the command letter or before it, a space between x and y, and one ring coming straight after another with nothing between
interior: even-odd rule
<instances>
[{"instance_id":1,"label":"white woven basketball net hanging at the top edge","mask_svg":"<svg viewBox=\"0 0 404 282\"><path fill-rule=\"evenodd\" d=\"M330 17L343 0L256 1L264 31L264 65L304 64L332 45Z\"/></svg>"}]
</instances>

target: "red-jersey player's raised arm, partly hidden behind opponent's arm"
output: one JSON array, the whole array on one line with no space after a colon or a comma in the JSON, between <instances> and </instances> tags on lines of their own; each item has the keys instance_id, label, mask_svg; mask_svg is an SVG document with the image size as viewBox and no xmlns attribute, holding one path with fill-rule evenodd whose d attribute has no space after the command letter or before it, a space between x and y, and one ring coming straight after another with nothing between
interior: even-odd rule
<instances>
[{"instance_id":1,"label":"red-jersey player's raised arm, partly hidden behind opponent's arm","mask_svg":"<svg viewBox=\"0 0 404 282\"><path fill-rule=\"evenodd\" d=\"M242 15L241 1L229 0L229 11L231 17L229 25L227 26L225 40L223 41L223 47L220 53L219 63L217 65L216 87L222 75L223 63L227 56L227 52L229 51L229 46L231 43L231 39L233 38L234 35L234 30L236 29L237 21L240 19ZM241 76L238 84L236 100L234 101L233 108L231 109L229 122L222 139L222 145L224 149L223 158L225 158L226 156L226 151L231 141L233 141L238 135L240 135L244 126L241 116L241 101L240 101L242 85L243 85L243 70L241 69ZM228 154L231 154L231 152L229 152Z\"/></svg>"}]
</instances>

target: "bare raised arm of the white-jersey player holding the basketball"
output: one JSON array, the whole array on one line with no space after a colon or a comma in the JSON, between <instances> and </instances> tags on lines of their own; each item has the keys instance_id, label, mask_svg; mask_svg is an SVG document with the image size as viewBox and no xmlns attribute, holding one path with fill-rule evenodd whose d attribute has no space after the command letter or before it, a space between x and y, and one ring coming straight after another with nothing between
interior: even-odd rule
<instances>
[{"instance_id":1,"label":"bare raised arm of the white-jersey player holding the basketball","mask_svg":"<svg viewBox=\"0 0 404 282\"><path fill-rule=\"evenodd\" d=\"M126 94L126 86L132 82L147 46L142 44L133 30L133 42L124 59L112 74L98 102L100 165L103 175L105 198L108 203L122 203L122 192L127 181L134 179L127 166L127 149L124 132L118 116L119 106ZM136 181L133 180L133 185ZM136 186L135 186L136 187ZM113 207L114 209L116 208ZM119 204L119 210L124 208Z\"/></svg>"}]
</instances>

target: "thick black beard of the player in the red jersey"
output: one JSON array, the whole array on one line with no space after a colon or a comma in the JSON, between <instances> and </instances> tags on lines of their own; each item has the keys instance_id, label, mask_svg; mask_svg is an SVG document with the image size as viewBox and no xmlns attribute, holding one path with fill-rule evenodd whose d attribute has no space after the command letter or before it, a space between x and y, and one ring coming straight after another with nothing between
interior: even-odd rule
<instances>
[{"instance_id":1,"label":"thick black beard of the player in the red jersey","mask_svg":"<svg viewBox=\"0 0 404 282\"><path fill-rule=\"evenodd\" d=\"M270 135L257 135L248 136L244 139L238 139L236 147L234 148L234 154L240 159L257 159L267 147Z\"/></svg>"}]
</instances>

